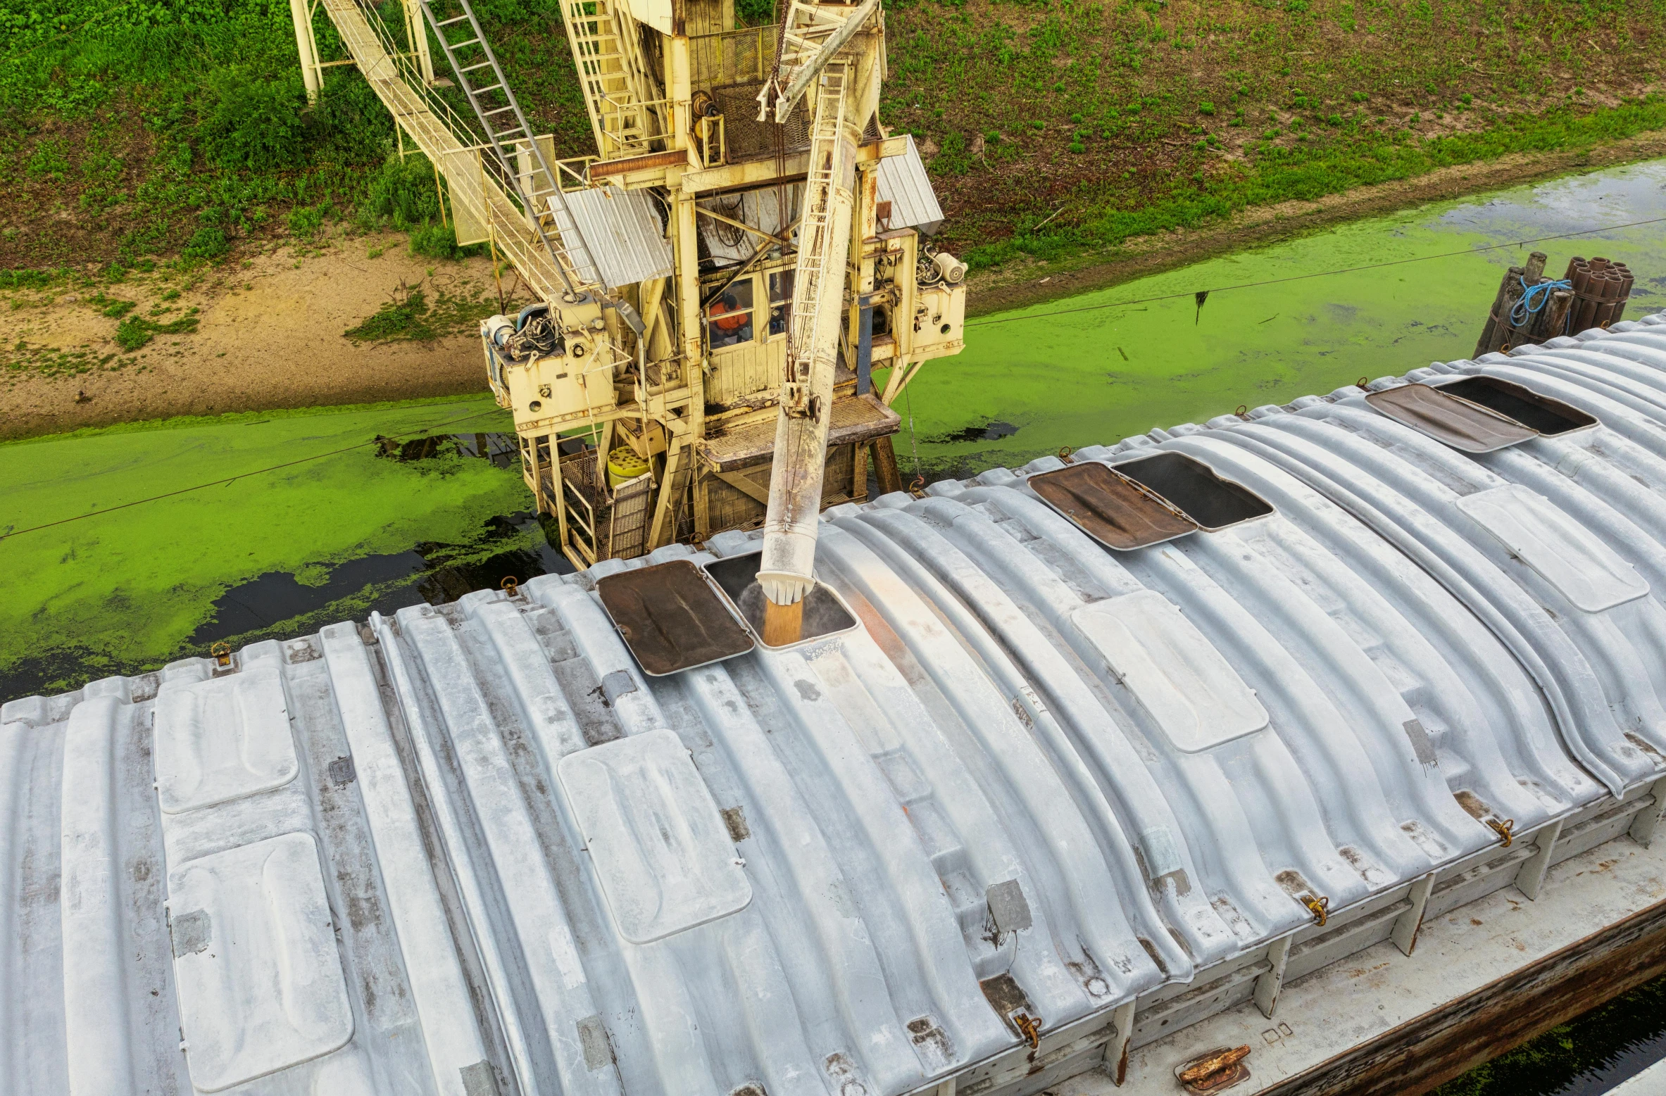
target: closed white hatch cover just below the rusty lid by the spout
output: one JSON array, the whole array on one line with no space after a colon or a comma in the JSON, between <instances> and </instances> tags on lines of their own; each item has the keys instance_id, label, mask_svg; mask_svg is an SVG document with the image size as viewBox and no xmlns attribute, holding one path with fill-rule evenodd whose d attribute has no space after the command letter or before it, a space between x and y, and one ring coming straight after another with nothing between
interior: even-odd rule
<instances>
[{"instance_id":1,"label":"closed white hatch cover just below the rusty lid by the spout","mask_svg":"<svg viewBox=\"0 0 1666 1096\"><path fill-rule=\"evenodd\" d=\"M620 936L646 944L751 901L718 805L675 731L570 753L560 765Z\"/></svg>"}]
</instances>

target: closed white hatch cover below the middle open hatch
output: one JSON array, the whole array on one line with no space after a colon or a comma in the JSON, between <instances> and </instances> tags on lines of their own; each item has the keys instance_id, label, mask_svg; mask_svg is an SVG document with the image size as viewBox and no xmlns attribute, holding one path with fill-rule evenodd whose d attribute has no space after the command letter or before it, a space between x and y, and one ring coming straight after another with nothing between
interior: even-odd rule
<instances>
[{"instance_id":1,"label":"closed white hatch cover below the middle open hatch","mask_svg":"<svg viewBox=\"0 0 1666 1096\"><path fill-rule=\"evenodd\" d=\"M1268 725L1254 691L1161 593L1095 601L1071 620L1175 750L1210 750Z\"/></svg>"}]
</instances>

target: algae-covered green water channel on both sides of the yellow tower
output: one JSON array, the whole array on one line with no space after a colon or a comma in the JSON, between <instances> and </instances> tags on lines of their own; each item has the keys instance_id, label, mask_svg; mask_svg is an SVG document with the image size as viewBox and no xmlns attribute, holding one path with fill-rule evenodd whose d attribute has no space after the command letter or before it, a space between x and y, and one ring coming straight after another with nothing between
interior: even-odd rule
<instances>
[{"instance_id":1,"label":"algae-covered green water channel on both sides of the yellow tower","mask_svg":"<svg viewBox=\"0 0 1666 1096\"><path fill-rule=\"evenodd\" d=\"M1501 272L1531 250L1474 248L1654 217L1666 217L1666 163L1424 207L981 316L966 351L930 363L900 401L911 428L898 458L926 478L968 475L1459 358ZM1551 273L1576 253L1628 262L1639 275L1629 315L1643 315L1666 286L1661 228L1536 247ZM1196 290L1215 290L1201 308ZM1065 315L1043 315L1053 311ZM372 445L508 428L481 395L0 445L0 700L563 568L508 460L445 450L398 461Z\"/></svg>"}]
</instances>

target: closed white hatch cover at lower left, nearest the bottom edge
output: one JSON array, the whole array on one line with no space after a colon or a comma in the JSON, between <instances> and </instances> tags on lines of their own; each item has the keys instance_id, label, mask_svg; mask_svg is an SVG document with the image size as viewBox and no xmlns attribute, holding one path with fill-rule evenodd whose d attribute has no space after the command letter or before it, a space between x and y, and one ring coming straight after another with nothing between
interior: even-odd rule
<instances>
[{"instance_id":1,"label":"closed white hatch cover at lower left, nearest the bottom edge","mask_svg":"<svg viewBox=\"0 0 1666 1096\"><path fill-rule=\"evenodd\" d=\"M197 1091L218 1093L353 1038L310 833L180 864L168 873L168 916Z\"/></svg>"}]
</instances>

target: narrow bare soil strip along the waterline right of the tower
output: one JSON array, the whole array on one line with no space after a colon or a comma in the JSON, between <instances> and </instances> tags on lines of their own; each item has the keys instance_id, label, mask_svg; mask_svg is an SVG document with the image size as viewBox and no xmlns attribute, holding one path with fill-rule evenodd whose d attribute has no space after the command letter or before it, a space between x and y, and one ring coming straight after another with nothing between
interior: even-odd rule
<instances>
[{"instance_id":1,"label":"narrow bare soil strip along the waterline right of the tower","mask_svg":"<svg viewBox=\"0 0 1666 1096\"><path fill-rule=\"evenodd\" d=\"M1110 253L1081 255L1066 262L1008 263L968 278L968 315L1025 308L1060 296L1101 290L1145 275L1161 273L1228 252L1266 247L1359 217L1461 198L1486 190L1516 187L1571 172L1616 167L1666 157L1666 130L1638 133L1593 150L1516 153L1488 163L1441 168L1416 178L1359 187L1316 202L1281 202L1243 210L1210 228L1181 228L1138 237Z\"/></svg>"}]
</instances>

